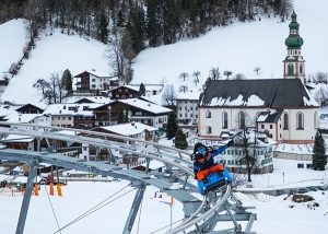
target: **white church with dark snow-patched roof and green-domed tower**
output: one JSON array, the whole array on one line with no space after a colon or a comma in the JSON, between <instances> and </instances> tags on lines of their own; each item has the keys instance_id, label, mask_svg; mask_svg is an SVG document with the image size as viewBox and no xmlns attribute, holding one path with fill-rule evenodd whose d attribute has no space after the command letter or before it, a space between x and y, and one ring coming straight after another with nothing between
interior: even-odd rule
<instances>
[{"instance_id":1,"label":"white church with dark snow-patched roof and green-domed tower","mask_svg":"<svg viewBox=\"0 0 328 234\"><path fill-rule=\"evenodd\" d=\"M283 79L209 81L198 103L200 139L216 140L231 129L250 127L277 142L314 142L319 105L303 84L303 38L297 15L291 16Z\"/></svg>"}]
</instances>

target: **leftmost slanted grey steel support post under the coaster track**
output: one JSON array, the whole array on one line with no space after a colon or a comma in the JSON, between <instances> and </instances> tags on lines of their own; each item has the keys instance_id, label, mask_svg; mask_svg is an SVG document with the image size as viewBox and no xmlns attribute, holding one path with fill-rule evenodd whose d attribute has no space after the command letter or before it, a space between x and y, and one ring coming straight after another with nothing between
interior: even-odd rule
<instances>
[{"instance_id":1,"label":"leftmost slanted grey steel support post under the coaster track","mask_svg":"<svg viewBox=\"0 0 328 234\"><path fill-rule=\"evenodd\" d=\"M16 227L16 234L23 234L24 232L24 226L25 226L25 221L27 217L27 211L28 211L28 206L31 201L31 195L34 188L34 179L36 176L36 168L37 168L37 163L31 163L31 169L28 173L28 178L27 178L27 184L26 184L26 189L23 198L23 203L21 207L21 212L20 212L20 218L19 218L19 223Z\"/></svg>"}]
</instances>

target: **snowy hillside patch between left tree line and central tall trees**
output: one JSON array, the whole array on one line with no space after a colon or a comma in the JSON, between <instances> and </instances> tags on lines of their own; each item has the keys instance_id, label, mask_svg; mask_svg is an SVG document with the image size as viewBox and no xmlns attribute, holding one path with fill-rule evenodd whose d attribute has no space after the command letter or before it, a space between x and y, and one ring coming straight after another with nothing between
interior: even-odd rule
<instances>
[{"instance_id":1,"label":"snowy hillside patch between left tree line and central tall trees","mask_svg":"<svg viewBox=\"0 0 328 234\"><path fill-rule=\"evenodd\" d=\"M0 44L0 48L2 46ZM36 48L31 52L31 58L12 79L1 101L38 103L42 95L33 87L35 81L48 80L50 74L56 72L61 75L66 69L70 69L72 74L91 69L108 73L106 46L95 39L86 40L80 36L68 36L59 31L56 31L52 36L42 35L36 42Z\"/></svg>"}]
</instances>

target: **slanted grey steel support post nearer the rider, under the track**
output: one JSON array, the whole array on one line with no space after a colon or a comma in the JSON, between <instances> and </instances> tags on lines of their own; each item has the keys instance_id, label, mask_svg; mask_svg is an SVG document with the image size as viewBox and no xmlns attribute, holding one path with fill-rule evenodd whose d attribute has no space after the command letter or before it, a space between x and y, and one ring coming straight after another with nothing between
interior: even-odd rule
<instances>
[{"instance_id":1,"label":"slanted grey steel support post nearer the rider, under the track","mask_svg":"<svg viewBox=\"0 0 328 234\"><path fill-rule=\"evenodd\" d=\"M126 221L126 225L125 225L125 229L122 231L124 234L130 234L131 233L131 230L132 230L138 210L140 208L144 191L145 191L145 185L140 185L140 187L138 188L138 190L136 192L132 207L130 209L128 219Z\"/></svg>"}]
</instances>

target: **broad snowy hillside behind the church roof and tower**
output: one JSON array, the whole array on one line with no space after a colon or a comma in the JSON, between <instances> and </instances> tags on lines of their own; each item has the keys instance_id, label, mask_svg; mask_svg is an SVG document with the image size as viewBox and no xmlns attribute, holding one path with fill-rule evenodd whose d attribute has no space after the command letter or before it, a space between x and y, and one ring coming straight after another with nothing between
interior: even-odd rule
<instances>
[{"instance_id":1,"label":"broad snowy hillside behind the church roof and tower","mask_svg":"<svg viewBox=\"0 0 328 234\"><path fill-rule=\"evenodd\" d=\"M306 73L327 70L323 56L328 52L326 37L328 15L326 0L295 0L300 34L304 38L303 57ZM315 17L313 15L316 15ZM262 19L250 23L235 23L214 28L207 35L174 45L142 51L136 59L134 83L178 81L181 72L201 72L202 81L212 67L244 73L246 78L282 78L282 60L286 56L284 39L289 35L290 19ZM261 69L256 75L254 69Z\"/></svg>"}]
</instances>

